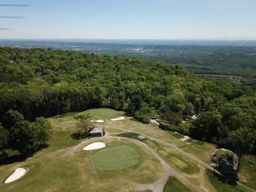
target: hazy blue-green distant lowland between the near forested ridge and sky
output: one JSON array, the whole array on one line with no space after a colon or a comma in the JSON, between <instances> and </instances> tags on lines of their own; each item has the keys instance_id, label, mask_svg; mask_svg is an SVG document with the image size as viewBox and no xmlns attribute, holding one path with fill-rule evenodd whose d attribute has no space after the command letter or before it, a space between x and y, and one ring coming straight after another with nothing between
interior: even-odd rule
<instances>
[{"instance_id":1,"label":"hazy blue-green distant lowland between the near forested ridge and sky","mask_svg":"<svg viewBox=\"0 0 256 192\"><path fill-rule=\"evenodd\" d=\"M253 41L3 41L0 46L80 50L100 55L129 55L180 64L189 71L222 81L256 84Z\"/></svg>"}]
</instances>

